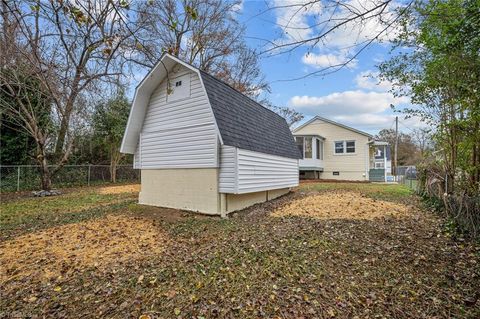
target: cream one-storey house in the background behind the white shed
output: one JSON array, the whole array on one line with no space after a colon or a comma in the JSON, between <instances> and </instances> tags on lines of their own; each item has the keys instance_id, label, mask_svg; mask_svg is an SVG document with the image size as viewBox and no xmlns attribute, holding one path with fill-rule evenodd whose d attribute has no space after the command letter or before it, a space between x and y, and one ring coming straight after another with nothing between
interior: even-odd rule
<instances>
[{"instance_id":1,"label":"cream one-storey house in the background behind the white shed","mask_svg":"<svg viewBox=\"0 0 480 319\"><path fill-rule=\"evenodd\" d=\"M301 178L387 181L390 146L355 128L315 116L293 130Z\"/></svg>"}]
</instances>

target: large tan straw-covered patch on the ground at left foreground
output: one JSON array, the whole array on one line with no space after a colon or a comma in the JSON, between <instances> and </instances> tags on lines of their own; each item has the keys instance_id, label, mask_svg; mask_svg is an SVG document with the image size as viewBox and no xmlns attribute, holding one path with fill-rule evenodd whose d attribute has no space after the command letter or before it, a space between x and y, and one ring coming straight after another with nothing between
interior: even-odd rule
<instances>
[{"instance_id":1,"label":"large tan straw-covered patch on the ground at left foreground","mask_svg":"<svg viewBox=\"0 0 480 319\"><path fill-rule=\"evenodd\" d=\"M154 222L129 216L59 226L2 243L0 283L68 276L91 267L102 270L160 254L167 243Z\"/></svg>"}]
</instances>

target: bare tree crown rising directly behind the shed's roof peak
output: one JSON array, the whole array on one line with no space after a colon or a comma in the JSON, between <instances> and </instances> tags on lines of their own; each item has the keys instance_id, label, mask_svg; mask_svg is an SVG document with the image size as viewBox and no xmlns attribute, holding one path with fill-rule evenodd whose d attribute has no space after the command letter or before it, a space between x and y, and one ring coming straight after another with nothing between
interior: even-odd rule
<instances>
[{"instance_id":1,"label":"bare tree crown rising directly behind the shed's roof peak","mask_svg":"<svg viewBox=\"0 0 480 319\"><path fill-rule=\"evenodd\" d=\"M269 87L258 54L244 40L235 16L240 1L153 0L138 7L133 57L152 67L163 52L211 73L251 97ZM155 58L151 58L151 56Z\"/></svg>"}]
</instances>

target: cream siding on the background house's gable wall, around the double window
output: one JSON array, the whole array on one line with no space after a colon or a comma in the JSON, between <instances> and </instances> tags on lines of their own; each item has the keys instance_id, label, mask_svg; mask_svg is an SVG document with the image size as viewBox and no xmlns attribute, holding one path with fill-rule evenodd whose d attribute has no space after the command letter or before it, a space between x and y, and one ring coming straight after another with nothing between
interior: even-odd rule
<instances>
[{"instance_id":1,"label":"cream siding on the background house's gable wall, around the double window","mask_svg":"<svg viewBox=\"0 0 480 319\"><path fill-rule=\"evenodd\" d=\"M368 180L369 138L341 126L317 119L298 130L294 135L318 134L325 138L323 154L323 172L320 178L338 180ZM355 154L334 154L334 142L355 140ZM333 175L339 172L340 175Z\"/></svg>"}]
</instances>

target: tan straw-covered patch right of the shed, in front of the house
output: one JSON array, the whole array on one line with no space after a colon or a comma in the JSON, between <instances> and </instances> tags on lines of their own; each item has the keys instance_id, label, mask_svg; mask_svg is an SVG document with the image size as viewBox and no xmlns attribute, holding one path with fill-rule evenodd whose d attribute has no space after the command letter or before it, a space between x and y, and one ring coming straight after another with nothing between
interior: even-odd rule
<instances>
[{"instance_id":1,"label":"tan straw-covered patch right of the shed, in front of the house","mask_svg":"<svg viewBox=\"0 0 480 319\"><path fill-rule=\"evenodd\" d=\"M308 195L274 211L272 216L306 216L319 219L374 219L405 216L406 205L375 200L357 192L325 192Z\"/></svg>"}]
</instances>

